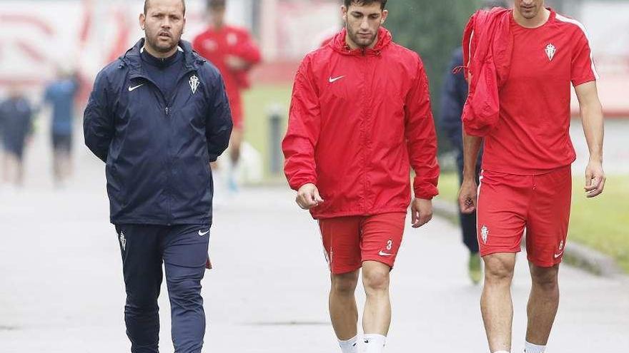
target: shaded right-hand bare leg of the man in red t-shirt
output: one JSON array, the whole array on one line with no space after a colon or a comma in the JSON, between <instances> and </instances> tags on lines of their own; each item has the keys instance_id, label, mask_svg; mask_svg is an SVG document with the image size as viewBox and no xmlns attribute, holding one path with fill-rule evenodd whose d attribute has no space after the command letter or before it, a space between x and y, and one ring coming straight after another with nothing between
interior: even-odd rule
<instances>
[{"instance_id":1,"label":"shaded right-hand bare leg of the man in red t-shirt","mask_svg":"<svg viewBox=\"0 0 629 353\"><path fill-rule=\"evenodd\" d=\"M531 292L528 298L526 341L545 346L559 307L559 265L538 267L529 264Z\"/></svg>"}]
</instances>

